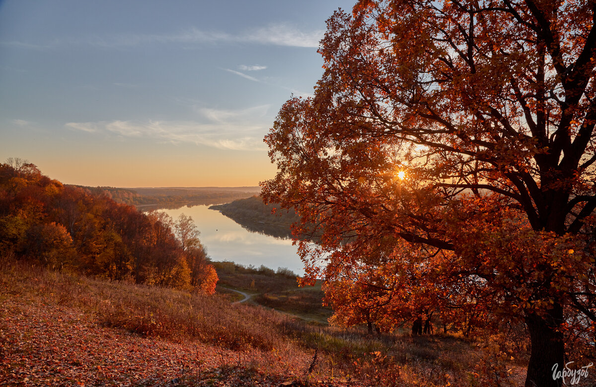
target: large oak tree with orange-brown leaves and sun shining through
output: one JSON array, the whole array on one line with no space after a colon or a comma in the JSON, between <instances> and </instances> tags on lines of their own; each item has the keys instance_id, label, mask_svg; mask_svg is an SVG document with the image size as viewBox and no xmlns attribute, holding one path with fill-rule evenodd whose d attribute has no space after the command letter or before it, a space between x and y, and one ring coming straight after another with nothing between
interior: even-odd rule
<instances>
[{"instance_id":1,"label":"large oak tree with orange-brown leaves and sun shining through","mask_svg":"<svg viewBox=\"0 0 596 387\"><path fill-rule=\"evenodd\" d=\"M560 385L565 341L593 344L596 322L595 8L362 0L336 12L315 95L288 100L265 139L278 166L265 198L320 241L300 242L307 273L364 281L385 297L368 306L396 318L418 299L517 319L526 386Z\"/></svg>"}]
</instances>

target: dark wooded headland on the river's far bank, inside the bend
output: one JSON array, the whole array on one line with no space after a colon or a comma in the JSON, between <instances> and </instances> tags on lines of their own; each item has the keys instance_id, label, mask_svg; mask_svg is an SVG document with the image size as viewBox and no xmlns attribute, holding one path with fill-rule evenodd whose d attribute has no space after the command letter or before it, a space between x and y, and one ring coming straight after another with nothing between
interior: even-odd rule
<instances>
[{"instance_id":1,"label":"dark wooded headland on the river's far bank, inside the bend","mask_svg":"<svg viewBox=\"0 0 596 387\"><path fill-rule=\"evenodd\" d=\"M209 207L243 226L249 231L260 232L276 238L291 238L290 226L300 220L294 210L283 210L276 204L265 204L260 196L234 200ZM275 213L271 213L276 209Z\"/></svg>"}]
</instances>

